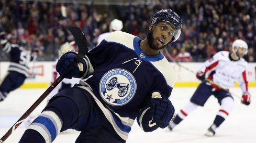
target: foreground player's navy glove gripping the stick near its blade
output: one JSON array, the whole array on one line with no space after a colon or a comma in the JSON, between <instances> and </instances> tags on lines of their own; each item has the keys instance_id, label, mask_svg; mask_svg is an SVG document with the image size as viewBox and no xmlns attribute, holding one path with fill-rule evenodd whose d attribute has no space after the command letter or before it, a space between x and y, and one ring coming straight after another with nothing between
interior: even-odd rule
<instances>
[{"instance_id":1,"label":"foreground player's navy glove gripping the stick near its blade","mask_svg":"<svg viewBox=\"0 0 256 143\"><path fill-rule=\"evenodd\" d=\"M56 64L56 70L61 76L66 79L72 79L72 77L82 77L86 70L86 63L82 59L79 63L75 62L77 53L74 51L68 51L64 53Z\"/></svg>"}]
</instances>

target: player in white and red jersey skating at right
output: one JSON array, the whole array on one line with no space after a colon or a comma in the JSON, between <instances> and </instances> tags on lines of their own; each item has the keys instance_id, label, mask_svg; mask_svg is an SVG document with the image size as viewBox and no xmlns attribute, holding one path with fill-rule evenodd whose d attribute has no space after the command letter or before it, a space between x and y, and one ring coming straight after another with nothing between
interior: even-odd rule
<instances>
[{"instance_id":1,"label":"player in white and red jersey skating at right","mask_svg":"<svg viewBox=\"0 0 256 143\"><path fill-rule=\"evenodd\" d=\"M190 102L177 113L173 123L168 126L171 131L198 106L204 106L210 95L214 95L214 97L218 99L220 109L213 124L205 133L205 136L214 136L216 129L225 121L233 109L233 97L228 90L235 85L235 81L237 80L243 92L241 103L250 105L251 95L248 92L247 62L242 58L247 54L247 50L248 46L246 42L236 40L232 43L231 53L228 51L219 51L213 58L204 63L203 68L196 74L196 77L201 80L202 83L197 87ZM212 80L213 82L207 82L205 77L209 79L208 81Z\"/></svg>"}]
</instances>

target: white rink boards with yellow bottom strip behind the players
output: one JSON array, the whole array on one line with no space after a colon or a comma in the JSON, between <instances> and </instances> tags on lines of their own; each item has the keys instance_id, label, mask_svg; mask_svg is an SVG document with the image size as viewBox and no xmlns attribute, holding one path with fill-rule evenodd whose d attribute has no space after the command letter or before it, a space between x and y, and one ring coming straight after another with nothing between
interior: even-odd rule
<instances>
[{"instance_id":1,"label":"white rink boards with yellow bottom strip behind the players","mask_svg":"<svg viewBox=\"0 0 256 143\"><path fill-rule=\"evenodd\" d=\"M177 73L175 87L196 87L199 80L196 79L195 73L201 69L203 62L181 62L180 64L189 69L185 69L176 63L170 62ZM2 81L7 73L9 62L0 62L0 81ZM46 88L52 79L52 70L54 62L35 62L30 63L30 77L25 81L21 88ZM194 73L193 73L193 72ZM248 82L250 87L256 87L256 63L248 63ZM236 87L238 84L236 83Z\"/></svg>"}]
</instances>

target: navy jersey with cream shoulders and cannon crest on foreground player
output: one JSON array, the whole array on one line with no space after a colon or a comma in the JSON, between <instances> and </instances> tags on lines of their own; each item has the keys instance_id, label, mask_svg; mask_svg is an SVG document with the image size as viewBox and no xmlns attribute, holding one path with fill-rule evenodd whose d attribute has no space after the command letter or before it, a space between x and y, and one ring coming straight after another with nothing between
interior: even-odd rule
<instances>
[{"instance_id":1,"label":"navy jersey with cream shoulders and cannon crest on foreground player","mask_svg":"<svg viewBox=\"0 0 256 143\"><path fill-rule=\"evenodd\" d=\"M125 140L139 111L150 107L152 92L170 97L176 75L161 53L147 56L139 46L140 41L125 32L112 32L84 58L87 63L84 78L92 76L79 86L91 93L117 134Z\"/></svg>"}]
</instances>

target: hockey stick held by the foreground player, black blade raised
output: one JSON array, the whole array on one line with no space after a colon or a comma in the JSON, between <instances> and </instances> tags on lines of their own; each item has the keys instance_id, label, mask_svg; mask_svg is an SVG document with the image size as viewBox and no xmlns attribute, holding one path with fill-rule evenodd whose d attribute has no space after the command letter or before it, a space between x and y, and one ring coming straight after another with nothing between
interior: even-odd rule
<instances>
[{"instance_id":1,"label":"hockey stick held by the foreground player, black blade raised","mask_svg":"<svg viewBox=\"0 0 256 143\"><path fill-rule=\"evenodd\" d=\"M72 33L75 38L75 42L79 48L76 62L78 63L88 52L87 40L83 31L79 27L70 27L68 30ZM29 116L29 114L36 109L36 107L46 98L50 92L64 79L59 76L50 87L37 99L37 101L20 117L20 119L8 130L7 133L0 139L0 143L4 142L10 134Z\"/></svg>"}]
</instances>

